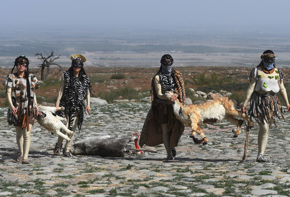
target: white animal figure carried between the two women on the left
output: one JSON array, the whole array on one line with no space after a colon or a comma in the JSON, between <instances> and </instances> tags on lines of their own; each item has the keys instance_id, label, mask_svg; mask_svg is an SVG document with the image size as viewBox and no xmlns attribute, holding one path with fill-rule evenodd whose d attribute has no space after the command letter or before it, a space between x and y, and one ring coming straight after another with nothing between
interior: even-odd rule
<instances>
[{"instance_id":1,"label":"white animal figure carried between the two women on the left","mask_svg":"<svg viewBox=\"0 0 290 197\"><path fill-rule=\"evenodd\" d=\"M72 135L74 132L69 130L63 122L66 122L67 119L55 115L55 112L57 111L56 107L48 107L48 106L42 106L39 105L38 109L42 113L42 116L37 115L36 120L40 124L40 126L44 127L48 131L62 137L67 142L71 141L71 138L69 138L67 135L63 134L60 130L63 129L68 135ZM64 107L59 108L61 111L64 110Z\"/></svg>"}]
</instances>

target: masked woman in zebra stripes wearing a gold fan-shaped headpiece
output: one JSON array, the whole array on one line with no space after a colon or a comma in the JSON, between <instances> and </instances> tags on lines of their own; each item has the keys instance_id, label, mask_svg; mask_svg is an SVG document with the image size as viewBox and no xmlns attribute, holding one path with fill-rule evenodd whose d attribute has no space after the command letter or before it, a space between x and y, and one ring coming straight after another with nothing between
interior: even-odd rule
<instances>
[{"instance_id":1,"label":"masked woman in zebra stripes wearing a gold fan-shaped headpiece","mask_svg":"<svg viewBox=\"0 0 290 197\"><path fill-rule=\"evenodd\" d=\"M84 99L87 100L87 106L85 112L90 115L90 93L92 85L90 79L87 77L86 72L83 68L86 58L80 54L71 56L71 67L63 72L59 93L56 99L55 107L64 106L64 112L59 112L59 116L67 119L67 128L71 131L75 131L78 127L78 131L81 132L81 127L84 119ZM64 134L66 134L63 131ZM70 153L71 144L74 140L74 134L69 136L70 142L66 142L63 148L63 155L66 157L73 157ZM62 147L63 138L59 137L54 153L59 154Z\"/></svg>"}]
</instances>

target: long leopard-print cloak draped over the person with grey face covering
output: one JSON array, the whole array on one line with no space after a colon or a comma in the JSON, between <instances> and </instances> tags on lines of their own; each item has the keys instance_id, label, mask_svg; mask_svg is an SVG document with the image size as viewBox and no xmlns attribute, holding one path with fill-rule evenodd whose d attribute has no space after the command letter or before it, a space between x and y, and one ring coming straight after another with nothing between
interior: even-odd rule
<instances>
[{"instance_id":1,"label":"long leopard-print cloak draped over the person with grey face covering","mask_svg":"<svg viewBox=\"0 0 290 197\"><path fill-rule=\"evenodd\" d=\"M157 123L157 119L155 116L155 108L157 105L157 102L155 102L155 99L158 99L157 93L155 90L155 83L154 79L156 75L158 75L160 72L157 72L155 76L153 77L151 81L151 108L149 109L149 112L147 114L147 117L145 119L139 145L142 147L144 144L147 146L157 146L159 144L163 144L163 137L162 137L162 127L160 124ZM185 90L184 90L184 84L183 79L177 70L174 70L172 68L172 75L174 76L174 79L176 81L177 88L175 89L175 93L178 95L178 100L185 104ZM174 113L173 113L173 107L172 105L169 106L169 116L168 116L168 125L167 129L169 132L171 132L170 136L170 149L178 145L178 141L184 131L184 124L181 123L179 120L176 119Z\"/></svg>"}]
</instances>

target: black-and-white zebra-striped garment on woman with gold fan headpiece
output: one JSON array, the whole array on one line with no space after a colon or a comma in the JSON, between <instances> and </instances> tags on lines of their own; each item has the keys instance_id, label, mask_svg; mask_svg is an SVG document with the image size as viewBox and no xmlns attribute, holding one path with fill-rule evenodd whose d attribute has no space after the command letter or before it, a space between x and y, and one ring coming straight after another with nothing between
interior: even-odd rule
<instances>
[{"instance_id":1,"label":"black-and-white zebra-striped garment on woman with gold fan headpiece","mask_svg":"<svg viewBox=\"0 0 290 197\"><path fill-rule=\"evenodd\" d=\"M78 132L81 132L82 123L84 120L84 100L88 91L91 90L92 85L89 78L82 74L83 83L80 79L71 74L72 68L63 72L63 79L65 80L63 88L63 96L60 100L59 106L65 107L65 112L61 112L61 117L65 113L65 117L69 121L69 129L71 130L74 117L78 112Z\"/></svg>"}]
</instances>

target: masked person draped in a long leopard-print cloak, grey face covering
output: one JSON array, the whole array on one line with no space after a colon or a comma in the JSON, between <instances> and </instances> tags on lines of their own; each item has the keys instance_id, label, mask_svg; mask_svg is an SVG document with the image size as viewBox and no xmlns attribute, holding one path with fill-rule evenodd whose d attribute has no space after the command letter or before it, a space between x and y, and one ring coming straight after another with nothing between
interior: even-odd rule
<instances>
[{"instance_id":1,"label":"masked person draped in a long leopard-print cloak, grey face covering","mask_svg":"<svg viewBox=\"0 0 290 197\"><path fill-rule=\"evenodd\" d=\"M161 58L161 66L151 81L151 108L145 119L139 145L157 146L164 144L167 159L173 160L176 156L175 146L184 131L184 124L175 118L172 102L175 95L165 96L165 91L178 95L178 100L185 104L184 83L180 72L172 67L173 58L166 54ZM165 102L156 102L163 100ZM166 103L166 104L165 104Z\"/></svg>"}]
</instances>

